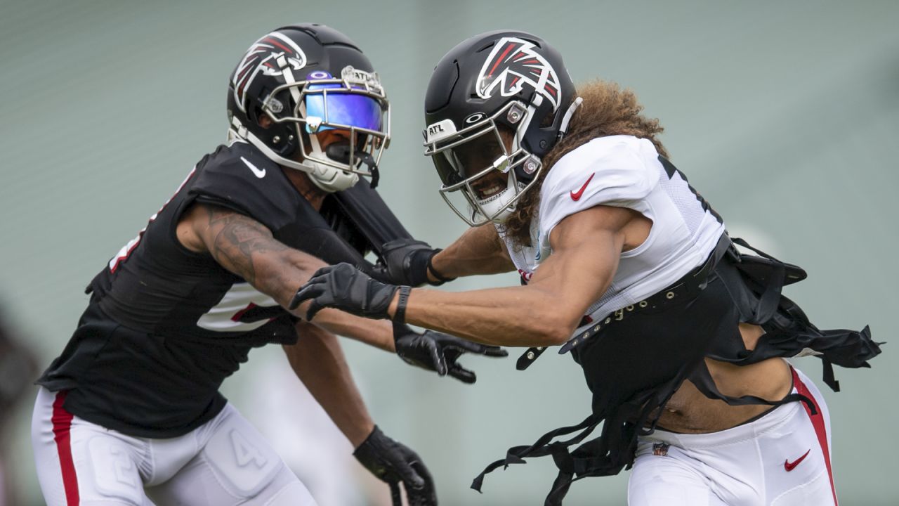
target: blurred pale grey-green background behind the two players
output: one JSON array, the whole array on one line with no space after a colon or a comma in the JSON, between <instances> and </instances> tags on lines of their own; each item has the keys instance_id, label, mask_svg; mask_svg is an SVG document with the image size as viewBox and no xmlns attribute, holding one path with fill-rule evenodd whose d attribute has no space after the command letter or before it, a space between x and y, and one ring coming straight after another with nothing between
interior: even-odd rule
<instances>
[{"instance_id":1,"label":"blurred pale grey-green background behind the two players","mask_svg":"<svg viewBox=\"0 0 899 506\"><path fill-rule=\"evenodd\" d=\"M67 341L93 275L224 140L227 78L245 49L297 22L346 32L378 69L394 113L380 190L416 237L445 246L465 230L422 155L431 70L469 35L517 28L554 44L575 82L603 77L634 89L645 113L666 127L674 163L732 235L806 268L809 279L787 294L819 327L870 324L875 339L895 340L895 0L2 0L0 300L41 367ZM496 276L448 289L515 282ZM479 380L467 386L344 342L375 420L423 456L441 504L542 504L555 475L546 458L491 474L483 495L467 487L507 447L588 414L589 395L569 357L547 353L525 373L513 366L521 350L505 360L469 357ZM893 346L870 370L838 368L842 393L824 392L844 504L899 503ZM225 384L251 420L271 414L257 397L290 399L285 389L293 388L266 375L285 362L270 348L254 351ZM824 388L818 360L797 364ZM32 398L3 435L13 449L7 471L26 505L43 503L28 436ZM280 429L285 440L298 431ZM314 466L322 451L350 450L294 457ZM626 482L624 473L576 483L565 503L624 504Z\"/></svg>"}]
</instances>

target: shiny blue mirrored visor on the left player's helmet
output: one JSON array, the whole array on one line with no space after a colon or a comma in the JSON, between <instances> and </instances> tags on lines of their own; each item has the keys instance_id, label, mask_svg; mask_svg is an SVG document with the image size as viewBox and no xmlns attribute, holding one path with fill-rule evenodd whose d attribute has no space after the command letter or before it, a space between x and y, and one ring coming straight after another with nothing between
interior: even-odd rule
<instances>
[{"instance_id":1,"label":"shiny blue mirrored visor on the left player's helmet","mask_svg":"<svg viewBox=\"0 0 899 506\"><path fill-rule=\"evenodd\" d=\"M309 84L309 91L343 88L340 83ZM354 126L374 131L381 130L381 106L374 98L354 93L341 93L339 91L325 94L308 94L306 101L306 117L316 116L322 119L322 126L318 129L334 130L333 126L324 123ZM327 114L325 115L325 102ZM306 131L312 133L309 125Z\"/></svg>"}]
</instances>

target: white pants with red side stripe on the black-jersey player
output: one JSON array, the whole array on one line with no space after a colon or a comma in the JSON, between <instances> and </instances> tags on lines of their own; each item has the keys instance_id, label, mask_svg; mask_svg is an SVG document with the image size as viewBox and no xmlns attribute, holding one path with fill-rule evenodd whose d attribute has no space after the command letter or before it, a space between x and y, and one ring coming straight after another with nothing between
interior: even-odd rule
<instances>
[{"instance_id":1,"label":"white pants with red side stripe on the black-jersey player","mask_svg":"<svg viewBox=\"0 0 899 506\"><path fill-rule=\"evenodd\" d=\"M41 387L31 419L38 479L49 506L315 506L268 442L232 406L197 429L134 438L62 407ZM152 500L152 501L151 501Z\"/></svg>"}]
</instances>

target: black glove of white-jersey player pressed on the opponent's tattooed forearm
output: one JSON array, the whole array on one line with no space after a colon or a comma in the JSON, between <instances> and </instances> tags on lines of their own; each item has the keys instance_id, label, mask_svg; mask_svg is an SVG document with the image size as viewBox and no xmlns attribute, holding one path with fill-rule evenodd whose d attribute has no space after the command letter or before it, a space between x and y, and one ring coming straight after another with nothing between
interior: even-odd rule
<instances>
[{"instance_id":1,"label":"black glove of white-jersey player pressed on the opponent's tattooed forearm","mask_svg":"<svg viewBox=\"0 0 899 506\"><path fill-rule=\"evenodd\" d=\"M336 264L322 267L312 275L293 296L288 306L290 310L308 299L312 299L306 312L307 321L312 321L316 312L333 307L365 318L388 318L387 308L399 286L386 285L371 279L352 264Z\"/></svg>"}]
</instances>

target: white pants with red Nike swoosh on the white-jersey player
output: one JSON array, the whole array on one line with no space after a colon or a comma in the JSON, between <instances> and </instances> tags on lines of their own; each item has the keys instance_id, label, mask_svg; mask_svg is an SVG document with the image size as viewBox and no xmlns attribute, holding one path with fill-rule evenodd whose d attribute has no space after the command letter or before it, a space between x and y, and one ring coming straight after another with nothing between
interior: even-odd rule
<instances>
[{"instance_id":1,"label":"white pants with red Nike swoosh on the white-jersey player","mask_svg":"<svg viewBox=\"0 0 899 506\"><path fill-rule=\"evenodd\" d=\"M630 506L836 505L831 419L817 387L793 369L790 402L758 420L710 434L656 430L640 438L628 483Z\"/></svg>"}]
</instances>

